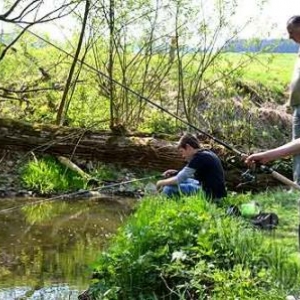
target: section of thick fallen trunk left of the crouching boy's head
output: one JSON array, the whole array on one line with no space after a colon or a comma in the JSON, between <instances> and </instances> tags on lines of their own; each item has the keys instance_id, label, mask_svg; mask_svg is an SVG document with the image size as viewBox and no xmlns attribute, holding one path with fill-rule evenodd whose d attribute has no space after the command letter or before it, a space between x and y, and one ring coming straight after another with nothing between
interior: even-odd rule
<instances>
[{"instance_id":1,"label":"section of thick fallen trunk left of the crouching boy's head","mask_svg":"<svg viewBox=\"0 0 300 300\"><path fill-rule=\"evenodd\" d=\"M158 171L184 164L174 142L151 136L117 135L10 119L0 119L0 148L78 156Z\"/></svg>"}]
</instances>

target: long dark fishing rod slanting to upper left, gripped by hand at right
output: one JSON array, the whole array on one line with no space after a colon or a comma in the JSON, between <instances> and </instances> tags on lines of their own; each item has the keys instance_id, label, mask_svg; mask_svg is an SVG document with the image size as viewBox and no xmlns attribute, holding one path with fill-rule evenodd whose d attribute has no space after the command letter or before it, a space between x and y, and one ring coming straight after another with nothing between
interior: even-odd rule
<instances>
[{"instance_id":1,"label":"long dark fishing rod slanting to upper left, gripped by hand at right","mask_svg":"<svg viewBox=\"0 0 300 300\"><path fill-rule=\"evenodd\" d=\"M19 24L16 24L17 26L19 26L20 28L24 29L21 25ZM46 39L44 39L43 37L37 35L36 33L32 32L31 30L28 30L27 31L32 34L33 36L37 37L38 39L42 40L43 42L51 45L52 47L56 48L57 50L63 52L64 54L66 54L67 56L69 57L72 57L74 58L74 55L72 55L71 53L68 53L67 51L65 51L64 49L58 47L57 45L51 43L50 41L47 41ZM160 109L161 111L165 112L166 114L170 115L171 117L175 118L176 120L182 122L183 124L189 126L190 128L194 129L195 131L198 131L200 133L202 133L203 135L207 136L208 138L210 138L211 140L215 141L216 143L224 146L225 148L227 148L228 150L238 154L241 158L243 158L244 156L246 156L245 153L239 151L238 149L236 149L235 147L229 145L228 143L216 138L215 136L205 132L204 130L196 127L195 125L191 124L190 122L184 120L183 118L177 116L176 114L168 111L167 109L165 109L164 107L162 107L161 105L151 101L149 98L143 96L143 95L140 95L138 92L132 90L131 88L129 88L128 86L126 86L125 84L123 83L120 83L119 81L115 80L114 78L112 77L109 77L109 75L105 74L104 72L101 72L100 70L96 69L95 67L89 65L88 63L86 63L85 61L82 61L81 59L77 59L78 62L80 62L82 65L86 66L87 68L93 70L94 72L96 72L97 74L100 74L101 76L103 76L104 78L108 79L109 81L117 84L118 86L124 88L125 90L129 91L130 93L132 93L133 95L137 96L139 99L142 99L144 101L146 101L147 103L151 104L152 106ZM261 170L268 173L268 174L271 174L275 179L281 181L282 183L284 184L287 184L297 190L300 190L300 186L295 184L292 180L289 180L288 178L286 178L285 176L279 174L278 172L276 172L275 170L273 170L272 168L268 167L268 166L265 166L265 165L261 165L260 166ZM250 174L248 174L248 177L250 176Z\"/></svg>"}]
</instances>

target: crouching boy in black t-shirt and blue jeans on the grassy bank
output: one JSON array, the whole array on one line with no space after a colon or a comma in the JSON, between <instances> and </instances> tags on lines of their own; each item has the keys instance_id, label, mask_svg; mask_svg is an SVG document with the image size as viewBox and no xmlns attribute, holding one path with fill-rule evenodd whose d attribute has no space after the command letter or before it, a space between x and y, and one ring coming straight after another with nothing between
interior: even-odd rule
<instances>
[{"instance_id":1,"label":"crouching boy in black t-shirt and blue jeans on the grassy bank","mask_svg":"<svg viewBox=\"0 0 300 300\"><path fill-rule=\"evenodd\" d=\"M224 170L219 157L210 150L200 149L198 139L191 134L183 135L177 148L187 165L179 172L164 172L168 178L157 181L157 189L162 188L169 197L180 193L190 195L202 189L207 199L217 203L226 197Z\"/></svg>"}]
</instances>

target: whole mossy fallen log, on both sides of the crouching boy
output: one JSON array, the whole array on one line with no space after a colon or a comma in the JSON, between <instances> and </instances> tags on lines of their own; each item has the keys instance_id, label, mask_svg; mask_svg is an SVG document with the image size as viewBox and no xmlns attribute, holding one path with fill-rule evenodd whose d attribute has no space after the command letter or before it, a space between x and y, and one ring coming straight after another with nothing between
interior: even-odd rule
<instances>
[{"instance_id":1,"label":"whole mossy fallen log, on both sides of the crouching boy","mask_svg":"<svg viewBox=\"0 0 300 300\"><path fill-rule=\"evenodd\" d=\"M164 138L0 119L0 149L78 157L157 171L181 168L184 161L177 151L176 142ZM171 140L177 139L173 137ZM241 174L247 169L240 158L233 161L233 153L224 147L207 139L200 141L203 148L212 149L222 159L230 190L259 191L281 185L267 174L259 174L256 182L240 185Z\"/></svg>"}]
</instances>

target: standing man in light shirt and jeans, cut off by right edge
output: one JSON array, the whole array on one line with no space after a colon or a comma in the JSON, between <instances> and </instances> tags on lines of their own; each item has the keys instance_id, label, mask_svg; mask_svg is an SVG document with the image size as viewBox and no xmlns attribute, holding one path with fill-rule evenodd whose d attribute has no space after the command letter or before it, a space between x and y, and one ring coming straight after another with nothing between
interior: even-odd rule
<instances>
[{"instance_id":1,"label":"standing man in light shirt and jeans, cut off by right edge","mask_svg":"<svg viewBox=\"0 0 300 300\"><path fill-rule=\"evenodd\" d=\"M287 21L287 31L289 38L300 44L300 15L293 16ZM293 140L300 138L300 52L294 68L290 84L290 94L288 105L293 113ZM300 153L293 156L293 178L294 182L300 184Z\"/></svg>"}]
</instances>

